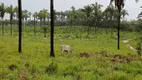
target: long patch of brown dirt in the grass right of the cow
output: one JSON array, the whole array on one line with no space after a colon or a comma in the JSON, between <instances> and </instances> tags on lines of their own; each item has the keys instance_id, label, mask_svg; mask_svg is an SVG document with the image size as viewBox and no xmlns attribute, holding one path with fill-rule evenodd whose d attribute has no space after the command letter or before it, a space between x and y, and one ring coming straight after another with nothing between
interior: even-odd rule
<instances>
[{"instance_id":1,"label":"long patch of brown dirt in the grass right of the cow","mask_svg":"<svg viewBox=\"0 0 142 80\"><path fill-rule=\"evenodd\" d=\"M106 51L101 51L101 52L96 52L95 54L89 54L87 52L80 53L80 57L86 57L86 58L97 58L96 56L101 56L102 59L110 60L112 64L118 64L118 63L129 63L131 61L136 61L136 60L141 60L141 57L138 56L133 56L133 55L120 55L120 54L115 54L115 55L110 55L106 53Z\"/></svg>"}]
</instances>

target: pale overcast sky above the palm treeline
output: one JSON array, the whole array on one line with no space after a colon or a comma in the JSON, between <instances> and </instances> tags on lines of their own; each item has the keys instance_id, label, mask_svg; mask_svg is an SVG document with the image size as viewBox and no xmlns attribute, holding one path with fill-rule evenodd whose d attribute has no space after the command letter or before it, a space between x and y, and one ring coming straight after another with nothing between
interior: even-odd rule
<instances>
[{"instance_id":1,"label":"pale overcast sky above the palm treeline","mask_svg":"<svg viewBox=\"0 0 142 80\"><path fill-rule=\"evenodd\" d=\"M5 5L17 6L18 0L0 0L0 2L5 3ZM92 4L98 2L103 5L103 10L109 5L110 0L54 0L55 10L56 11L65 11L70 10L72 6L76 9L82 8L84 5ZM128 10L129 16L127 20L137 19L138 14L142 11L142 0L139 0L138 3L135 0L126 0L125 9ZM50 0L22 0L22 8L26 9L32 13L38 12L41 9L50 10Z\"/></svg>"}]
</instances>

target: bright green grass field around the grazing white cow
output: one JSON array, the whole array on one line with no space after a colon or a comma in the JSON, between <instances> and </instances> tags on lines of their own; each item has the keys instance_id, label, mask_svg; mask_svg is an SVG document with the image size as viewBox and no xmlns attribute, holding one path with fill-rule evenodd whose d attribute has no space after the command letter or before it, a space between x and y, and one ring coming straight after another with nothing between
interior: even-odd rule
<instances>
[{"instance_id":1,"label":"bright green grass field around the grazing white cow","mask_svg":"<svg viewBox=\"0 0 142 80\"><path fill-rule=\"evenodd\" d=\"M122 42L131 39L128 44L136 48L139 37L136 32L121 32L118 51L116 32L110 36L110 33L92 31L90 38L85 39L83 29L79 33L74 28L71 29L74 32L60 28L55 29L55 58L49 57L49 32L44 38L40 32L33 36L30 29L25 30L20 54L16 29L12 36L7 30L5 36L0 36L0 79L142 80L142 58ZM73 53L62 53L63 44L70 45ZM81 56L84 52L86 55Z\"/></svg>"}]
</instances>

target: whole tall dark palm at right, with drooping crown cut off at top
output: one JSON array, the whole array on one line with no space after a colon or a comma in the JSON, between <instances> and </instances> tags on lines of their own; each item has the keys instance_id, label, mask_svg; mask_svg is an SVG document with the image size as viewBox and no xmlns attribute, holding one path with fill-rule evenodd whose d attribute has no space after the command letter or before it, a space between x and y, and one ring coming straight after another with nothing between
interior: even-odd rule
<instances>
[{"instance_id":1,"label":"whole tall dark palm at right, with drooping crown cut off at top","mask_svg":"<svg viewBox=\"0 0 142 80\"><path fill-rule=\"evenodd\" d=\"M135 0L136 2L138 2L139 0ZM121 10L125 5L125 0L110 0L110 3L112 4L114 2L115 6L118 9L118 44L117 44L117 48L118 50L120 50L120 19L121 19Z\"/></svg>"}]
</instances>

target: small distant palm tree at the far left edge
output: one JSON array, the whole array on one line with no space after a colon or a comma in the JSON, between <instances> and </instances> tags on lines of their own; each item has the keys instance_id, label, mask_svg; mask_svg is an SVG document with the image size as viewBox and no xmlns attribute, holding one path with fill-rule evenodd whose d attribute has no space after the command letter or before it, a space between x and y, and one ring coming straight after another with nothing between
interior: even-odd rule
<instances>
[{"instance_id":1,"label":"small distant palm tree at the far left edge","mask_svg":"<svg viewBox=\"0 0 142 80\"><path fill-rule=\"evenodd\" d=\"M2 36L4 36L4 15L6 12L6 6L4 5L4 3L0 4L0 17L2 18Z\"/></svg>"}]
</instances>

